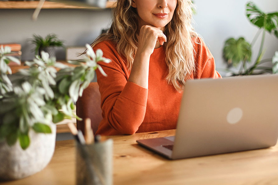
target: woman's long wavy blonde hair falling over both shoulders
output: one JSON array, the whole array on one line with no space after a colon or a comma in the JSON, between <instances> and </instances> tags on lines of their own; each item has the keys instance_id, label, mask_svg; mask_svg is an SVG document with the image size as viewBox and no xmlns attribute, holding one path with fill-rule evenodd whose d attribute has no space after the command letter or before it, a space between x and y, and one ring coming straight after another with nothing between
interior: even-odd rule
<instances>
[{"instance_id":1,"label":"woman's long wavy blonde hair falling over both shoulders","mask_svg":"<svg viewBox=\"0 0 278 185\"><path fill-rule=\"evenodd\" d=\"M126 65L131 70L136 54L139 37L139 16L132 0L118 0L112 16L112 25L107 33L101 34L92 44L110 40L116 43L119 54L125 57ZM167 42L163 44L168 66L166 80L177 91L183 89L186 80L195 72L194 46L192 38L197 37L191 25L191 0L177 0L177 7L172 20L165 26ZM196 41L195 41L196 42Z\"/></svg>"}]
</instances>

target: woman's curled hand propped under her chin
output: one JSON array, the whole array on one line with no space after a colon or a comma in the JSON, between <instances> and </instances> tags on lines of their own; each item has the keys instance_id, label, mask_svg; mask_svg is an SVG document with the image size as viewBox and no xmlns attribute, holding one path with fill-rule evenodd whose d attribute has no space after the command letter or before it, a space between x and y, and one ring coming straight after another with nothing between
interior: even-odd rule
<instances>
[{"instance_id":1,"label":"woman's curled hand propped under her chin","mask_svg":"<svg viewBox=\"0 0 278 185\"><path fill-rule=\"evenodd\" d=\"M167 41L162 30L151 25L144 25L140 29L138 47L136 53L144 53L151 55L156 46L157 40L160 45Z\"/></svg>"}]
</instances>

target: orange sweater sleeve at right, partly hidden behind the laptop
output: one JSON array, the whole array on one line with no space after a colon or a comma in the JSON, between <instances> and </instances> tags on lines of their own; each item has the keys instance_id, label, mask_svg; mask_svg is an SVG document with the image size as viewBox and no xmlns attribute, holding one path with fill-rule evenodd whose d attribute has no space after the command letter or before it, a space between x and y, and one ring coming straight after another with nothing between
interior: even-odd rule
<instances>
[{"instance_id":1,"label":"orange sweater sleeve at right, partly hidden behind the laptop","mask_svg":"<svg viewBox=\"0 0 278 185\"><path fill-rule=\"evenodd\" d=\"M193 39L196 72L194 78L222 78L215 70L214 57L201 38Z\"/></svg>"}]
</instances>

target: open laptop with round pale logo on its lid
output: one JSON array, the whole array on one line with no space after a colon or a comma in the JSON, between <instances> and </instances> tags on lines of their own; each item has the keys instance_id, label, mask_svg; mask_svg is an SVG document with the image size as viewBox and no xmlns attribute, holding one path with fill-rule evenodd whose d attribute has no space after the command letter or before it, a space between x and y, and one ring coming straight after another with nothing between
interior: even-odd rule
<instances>
[{"instance_id":1,"label":"open laptop with round pale logo on its lid","mask_svg":"<svg viewBox=\"0 0 278 185\"><path fill-rule=\"evenodd\" d=\"M276 145L278 75L189 80L184 86L176 136L137 142L168 159Z\"/></svg>"}]
</instances>

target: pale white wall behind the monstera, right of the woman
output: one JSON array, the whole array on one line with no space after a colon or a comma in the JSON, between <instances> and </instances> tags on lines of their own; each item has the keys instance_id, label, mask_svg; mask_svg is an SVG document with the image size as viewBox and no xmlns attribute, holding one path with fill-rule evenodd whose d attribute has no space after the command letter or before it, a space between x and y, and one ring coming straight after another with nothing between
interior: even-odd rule
<instances>
[{"instance_id":1,"label":"pale white wall behind the monstera, right of the woman","mask_svg":"<svg viewBox=\"0 0 278 185\"><path fill-rule=\"evenodd\" d=\"M258 28L252 25L245 16L246 0L195 0L197 14L194 15L196 31L204 38L211 53L215 58L218 69L225 68L226 64L222 58L224 41L229 37L238 39L244 37L249 43L255 37ZM278 11L277 0L253 0L257 7L263 12ZM262 35L253 47L252 61L257 57ZM266 53L263 58L272 58L278 51L278 39L266 34L264 48ZM224 75L222 71L219 72Z\"/></svg>"}]
</instances>

